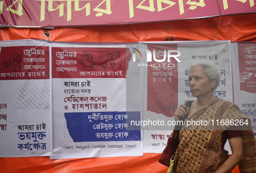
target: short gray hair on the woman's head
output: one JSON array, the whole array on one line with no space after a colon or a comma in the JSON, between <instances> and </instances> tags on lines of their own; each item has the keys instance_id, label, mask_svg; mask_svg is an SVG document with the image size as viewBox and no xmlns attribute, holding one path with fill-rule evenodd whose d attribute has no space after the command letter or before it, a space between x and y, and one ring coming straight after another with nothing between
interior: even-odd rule
<instances>
[{"instance_id":1,"label":"short gray hair on the woman's head","mask_svg":"<svg viewBox=\"0 0 256 173\"><path fill-rule=\"evenodd\" d=\"M192 60L189 62L188 69L190 70L192 67L198 65L204 67L204 74L206 74L206 76L208 77L209 82L211 82L211 80L213 79L216 80L216 84L212 89L212 92L214 92L214 90L216 90L220 84L221 73L219 67L217 66L217 64L209 60Z\"/></svg>"}]
</instances>

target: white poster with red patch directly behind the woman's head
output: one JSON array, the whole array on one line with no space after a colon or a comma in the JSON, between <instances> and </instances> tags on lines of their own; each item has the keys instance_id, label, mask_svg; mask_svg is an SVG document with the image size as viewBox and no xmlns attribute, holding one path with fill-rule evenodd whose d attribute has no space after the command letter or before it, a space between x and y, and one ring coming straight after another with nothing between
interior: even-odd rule
<instances>
[{"instance_id":1,"label":"white poster with red patch directly behind the woman's head","mask_svg":"<svg viewBox=\"0 0 256 173\"><path fill-rule=\"evenodd\" d=\"M162 153L175 125L175 110L186 100L196 99L188 86L187 67L191 60L215 62L221 70L221 81L213 94L233 102L230 42L142 43L141 48L152 52L152 60L153 56L158 60L166 58L162 62L152 61L152 67L140 66L143 68L143 151ZM141 64L146 64L146 59L141 60Z\"/></svg>"}]
</instances>

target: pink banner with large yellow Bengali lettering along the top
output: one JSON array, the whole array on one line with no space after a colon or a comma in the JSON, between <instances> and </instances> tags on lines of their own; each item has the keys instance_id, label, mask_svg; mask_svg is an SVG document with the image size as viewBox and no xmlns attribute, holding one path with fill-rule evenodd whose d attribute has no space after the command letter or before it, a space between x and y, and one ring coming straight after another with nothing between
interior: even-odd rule
<instances>
[{"instance_id":1,"label":"pink banner with large yellow Bengali lettering along the top","mask_svg":"<svg viewBox=\"0 0 256 173\"><path fill-rule=\"evenodd\" d=\"M5 0L3 26L85 26L255 13L254 0ZM172 15L170 15L172 14Z\"/></svg>"}]
</instances>

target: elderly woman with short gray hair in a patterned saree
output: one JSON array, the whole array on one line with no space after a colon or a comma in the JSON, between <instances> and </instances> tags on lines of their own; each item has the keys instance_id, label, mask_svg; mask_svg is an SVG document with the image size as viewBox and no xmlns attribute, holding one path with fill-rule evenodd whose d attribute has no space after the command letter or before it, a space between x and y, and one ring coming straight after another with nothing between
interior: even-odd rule
<instances>
[{"instance_id":1,"label":"elderly woman with short gray hair in a patterned saree","mask_svg":"<svg viewBox=\"0 0 256 173\"><path fill-rule=\"evenodd\" d=\"M247 120L249 124L250 120L235 104L214 97L213 91L220 83L220 70L217 65L211 61L195 60L190 62L189 68L189 88L192 96L197 99L190 107L181 104L175 111L175 120L185 117L186 121L211 123L185 125L181 128L179 145L175 152L175 173L231 173L238 163L240 171L256 173L253 131L220 125L221 119L228 122L232 119L243 122ZM224 150L227 139L232 151L230 157Z\"/></svg>"}]
</instances>

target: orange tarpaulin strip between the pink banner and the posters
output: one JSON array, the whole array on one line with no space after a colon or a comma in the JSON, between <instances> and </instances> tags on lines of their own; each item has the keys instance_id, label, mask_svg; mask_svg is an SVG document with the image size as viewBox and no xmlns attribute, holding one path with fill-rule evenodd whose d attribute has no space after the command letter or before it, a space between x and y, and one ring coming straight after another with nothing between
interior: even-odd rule
<instances>
[{"instance_id":1,"label":"orange tarpaulin strip between the pink banner and the posters","mask_svg":"<svg viewBox=\"0 0 256 173\"><path fill-rule=\"evenodd\" d=\"M221 22L221 23L220 23ZM221 24L220 27L219 23ZM0 40L45 39L52 42L256 41L256 14L123 25L55 29L0 28ZM44 33L49 32L49 37Z\"/></svg>"}]
</instances>

